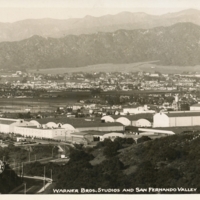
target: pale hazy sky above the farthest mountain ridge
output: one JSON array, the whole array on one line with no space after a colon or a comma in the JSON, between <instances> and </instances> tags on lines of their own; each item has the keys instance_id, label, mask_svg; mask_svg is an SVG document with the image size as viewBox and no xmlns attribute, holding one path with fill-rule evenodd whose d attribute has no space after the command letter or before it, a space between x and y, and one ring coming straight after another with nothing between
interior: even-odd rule
<instances>
[{"instance_id":1,"label":"pale hazy sky above the farthest mountain ridge","mask_svg":"<svg viewBox=\"0 0 200 200\"><path fill-rule=\"evenodd\" d=\"M200 10L200 0L0 0L0 22L98 17L122 11L160 15L188 8Z\"/></svg>"}]
</instances>

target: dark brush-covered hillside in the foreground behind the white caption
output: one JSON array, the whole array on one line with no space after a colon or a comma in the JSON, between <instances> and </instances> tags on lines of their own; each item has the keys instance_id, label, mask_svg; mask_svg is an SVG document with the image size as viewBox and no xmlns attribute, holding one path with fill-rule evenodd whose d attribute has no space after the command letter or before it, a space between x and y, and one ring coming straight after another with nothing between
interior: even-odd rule
<instances>
[{"instance_id":1,"label":"dark brush-covered hillside in the foreground behind the white caption","mask_svg":"<svg viewBox=\"0 0 200 200\"><path fill-rule=\"evenodd\" d=\"M199 142L197 131L154 140L142 136L137 144L132 138L116 138L114 142L109 139L99 142L94 148L76 145L70 150L67 164L46 164L46 169L54 172L53 189L60 191L50 192L61 194L62 189L67 189L73 193L70 189L77 189L79 193L197 194L200 192ZM35 162L26 165L25 172L41 176L43 169L44 164ZM46 175L50 177L50 172ZM89 190L82 191L84 188Z\"/></svg>"}]
</instances>

